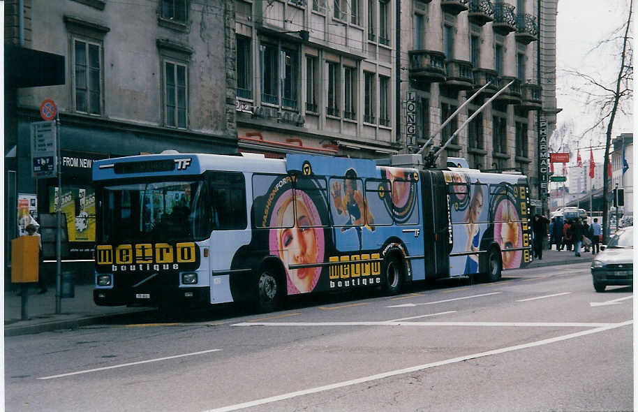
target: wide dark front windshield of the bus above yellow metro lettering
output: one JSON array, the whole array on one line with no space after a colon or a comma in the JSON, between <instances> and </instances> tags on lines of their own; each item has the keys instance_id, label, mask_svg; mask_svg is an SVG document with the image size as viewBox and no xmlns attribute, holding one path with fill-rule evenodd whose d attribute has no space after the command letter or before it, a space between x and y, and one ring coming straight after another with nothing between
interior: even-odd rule
<instances>
[{"instance_id":1,"label":"wide dark front windshield of the bus above yellow metro lettering","mask_svg":"<svg viewBox=\"0 0 638 412\"><path fill-rule=\"evenodd\" d=\"M100 241L166 242L207 237L203 183L170 181L104 186L98 195Z\"/></svg>"}]
</instances>

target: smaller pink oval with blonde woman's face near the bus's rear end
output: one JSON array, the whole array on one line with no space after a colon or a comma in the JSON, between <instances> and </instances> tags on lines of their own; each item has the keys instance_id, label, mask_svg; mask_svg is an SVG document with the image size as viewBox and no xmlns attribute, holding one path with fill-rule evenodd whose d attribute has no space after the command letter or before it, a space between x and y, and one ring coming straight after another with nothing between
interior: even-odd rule
<instances>
[{"instance_id":1,"label":"smaller pink oval with blonde woman's face near the bus's rear end","mask_svg":"<svg viewBox=\"0 0 638 412\"><path fill-rule=\"evenodd\" d=\"M500 246L503 256L503 269L521 267L523 251L505 251L505 249L523 246L523 230L519 214L511 200L501 200L494 214L494 241Z\"/></svg>"}]
</instances>

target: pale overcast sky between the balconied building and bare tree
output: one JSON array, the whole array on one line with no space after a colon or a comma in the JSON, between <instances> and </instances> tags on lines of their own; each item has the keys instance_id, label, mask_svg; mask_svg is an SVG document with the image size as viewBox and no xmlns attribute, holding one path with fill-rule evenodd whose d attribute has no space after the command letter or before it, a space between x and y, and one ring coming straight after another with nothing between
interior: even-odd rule
<instances>
[{"instance_id":1,"label":"pale overcast sky between the balconied building and bare tree","mask_svg":"<svg viewBox=\"0 0 638 412\"><path fill-rule=\"evenodd\" d=\"M592 50L599 41L610 38L611 33L621 27L627 20L628 10L629 0L558 0L556 98L558 108L563 109L558 113L558 126L573 121L576 136L572 140L577 140L579 135L593 126L594 119L598 118L598 111L586 104L583 94L570 90L575 80L561 71L577 70L615 88L620 60L611 57L609 47L605 50ZM632 22L632 28L636 27L634 23ZM620 51L616 51L616 54L619 55ZM620 133L630 133L633 128L633 117L618 112L612 138ZM604 145L604 129L589 133L578 145L572 145L574 154L577 147L589 147L590 140L594 147ZM589 158L588 150L584 152L581 149L580 152L584 160ZM604 152L594 151L594 156L596 161L602 161ZM576 160L575 156L572 160Z\"/></svg>"}]
</instances>

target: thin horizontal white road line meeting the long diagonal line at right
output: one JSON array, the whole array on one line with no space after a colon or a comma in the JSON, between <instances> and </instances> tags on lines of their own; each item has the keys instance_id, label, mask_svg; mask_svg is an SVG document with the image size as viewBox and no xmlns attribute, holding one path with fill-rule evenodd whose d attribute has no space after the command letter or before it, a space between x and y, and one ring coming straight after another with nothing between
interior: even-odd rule
<instances>
[{"instance_id":1,"label":"thin horizontal white road line meeting the long diagonal line at right","mask_svg":"<svg viewBox=\"0 0 638 412\"><path fill-rule=\"evenodd\" d=\"M516 326L533 328L604 328L615 323L578 322L242 322L231 326Z\"/></svg>"}]
</instances>

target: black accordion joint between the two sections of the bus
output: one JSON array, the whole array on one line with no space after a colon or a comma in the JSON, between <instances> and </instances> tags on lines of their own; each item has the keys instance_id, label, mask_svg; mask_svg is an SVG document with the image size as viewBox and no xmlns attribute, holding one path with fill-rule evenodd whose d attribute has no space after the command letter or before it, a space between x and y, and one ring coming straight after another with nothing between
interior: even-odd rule
<instances>
[{"instance_id":1,"label":"black accordion joint between the two sections of the bus","mask_svg":"<svg viewBox=\"0 0 638 412\"><path fill-rule=\"evenodd\" d=\"M452 230L447 185L440 170L421 172L426 279L450 272Z\"/></svg>"}]
</instances>

